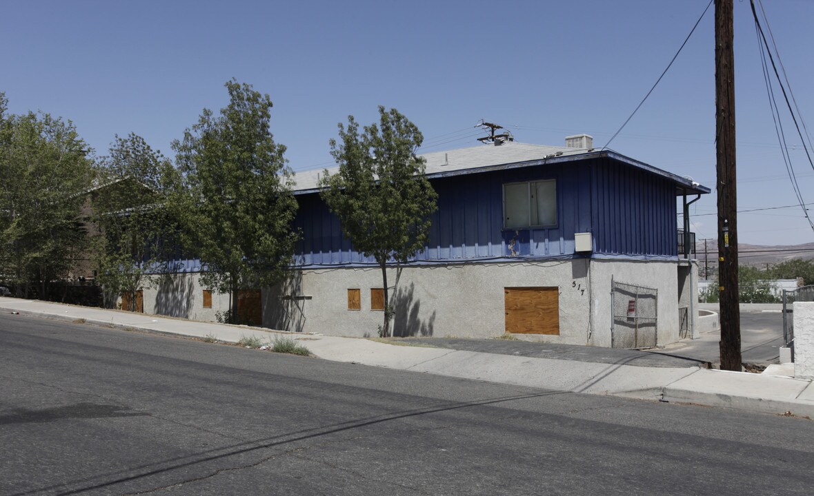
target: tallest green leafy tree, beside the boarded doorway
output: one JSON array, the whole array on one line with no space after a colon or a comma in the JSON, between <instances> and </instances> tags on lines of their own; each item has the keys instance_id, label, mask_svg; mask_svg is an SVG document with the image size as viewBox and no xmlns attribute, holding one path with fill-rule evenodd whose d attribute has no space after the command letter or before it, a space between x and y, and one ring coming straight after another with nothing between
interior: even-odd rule
<instances>
[{"instance_id":1,"label":"tallest green leafy tree, beside the boarded doorway","mask_svg":"<svg viewBox=\"0 0 814 496\"><path fill-rule=\"evenodd\" d=\"M175 204L184 244L201 261L201 281L230 294L234 323L239 290L279 281L291 263L297 203L286 148L269 131L269 95L235 80L225 86L230 103L220 115L204 109L183 140L173 141L182 172Z\"/></svg>"}]
</instances>

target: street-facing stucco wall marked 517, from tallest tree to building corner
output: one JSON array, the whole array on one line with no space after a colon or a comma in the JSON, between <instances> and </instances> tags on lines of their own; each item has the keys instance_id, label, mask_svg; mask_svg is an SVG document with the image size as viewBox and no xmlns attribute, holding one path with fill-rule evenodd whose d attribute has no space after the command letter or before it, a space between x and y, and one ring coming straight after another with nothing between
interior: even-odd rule
<instances>
[{"instance_id":1,"label":"street-facing stucco wall marked 517, from tallest tree to building corner","mask_svg":"<svg viewBox=\"0 0 814 496\"><path fill-rule=\"evenodd\" d=\"M560 336L546 336L547 340L585 344L589 325L589 292L581 291L587 288L585 267L583 259L406 267L390 293L396 311L393 328L397 336L500 336L505 332L504 287L555 286ZM382 287L379 268L306 270L296 272L292 280L285 289L265 295L269 309L265 325L341 336L377 335L383 312L370 309L370 289ZM387 282L391 288L395 284L395 269L388 269ZM355 288L361 289L358 311L348 310L348 289ZM308 299L281 300L291 297L292 289ZM275 300L287 309L270 311Z\"/></svg>"}]
</instances>

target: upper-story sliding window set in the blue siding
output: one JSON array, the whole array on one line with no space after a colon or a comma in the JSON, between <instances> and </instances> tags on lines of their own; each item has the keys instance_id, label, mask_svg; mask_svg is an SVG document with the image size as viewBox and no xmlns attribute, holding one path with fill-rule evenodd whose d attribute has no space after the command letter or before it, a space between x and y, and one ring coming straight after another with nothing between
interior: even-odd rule
<instances>
[{"instance_id":1,"label":"upper-story sliding window set in the blue siding","mask_svg":"<svg viewBox=\"0 0 814 496\"><path fill-rule=\"evenodd\" d=\"M557 182L503 185L503 226L527 228L557 225Z\"/></svg>"}]
</instances>

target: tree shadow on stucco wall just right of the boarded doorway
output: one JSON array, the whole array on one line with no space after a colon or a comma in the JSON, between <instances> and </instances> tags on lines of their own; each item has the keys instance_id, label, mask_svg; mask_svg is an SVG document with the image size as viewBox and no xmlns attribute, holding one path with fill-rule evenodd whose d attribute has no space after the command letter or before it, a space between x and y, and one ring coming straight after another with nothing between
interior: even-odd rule
<instances>
[{"instance_id":1,"label":"tree shadow on stucco wall just right of the boarded doorway","mask_svg":"<svg viewBox=\"0 0 814 496\"><path fill-rule=\"evenodd\" d=\"M277 285L265 291L263 326L301 333L305 325L305 302L311 299L302 290L303 274L291 270Z\"/></svg>"}]
</instances>

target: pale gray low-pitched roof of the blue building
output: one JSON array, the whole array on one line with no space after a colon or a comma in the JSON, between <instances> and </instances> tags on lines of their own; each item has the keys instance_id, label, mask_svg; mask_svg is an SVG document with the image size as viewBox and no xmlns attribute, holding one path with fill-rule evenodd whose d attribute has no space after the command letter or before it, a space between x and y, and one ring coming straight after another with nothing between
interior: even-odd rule
<instances>
[{"instance_id":1,"label":"pale gray low-pitched roof of the blue building","mask_svg":"<svg viewBox=\"0 0 814 496\"><path fill-rule=\"evenodd\" d=\"M543 146L505 141L499 146L492 144L470 146L457 150L436 151L419 155L427 160L426 175L429 179L444 176L458 176L478 172L490 172L504 168L523 168L542 164L565 163L573 160L598 159L602 157L626 163L634 168L663 176L676 183L676 194L707 194L710 189L699 185L691 179L676 176L672 172L630 159L613 150L585 150L584 148L567 148L565 146ZM339 166L328 169L333 174ZM317 183L324 169L297 172L295 176L295 194L315 193L319 190Z\"/></svg>"}]
</instances>

